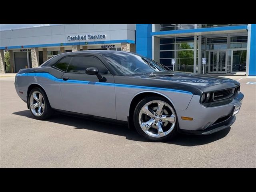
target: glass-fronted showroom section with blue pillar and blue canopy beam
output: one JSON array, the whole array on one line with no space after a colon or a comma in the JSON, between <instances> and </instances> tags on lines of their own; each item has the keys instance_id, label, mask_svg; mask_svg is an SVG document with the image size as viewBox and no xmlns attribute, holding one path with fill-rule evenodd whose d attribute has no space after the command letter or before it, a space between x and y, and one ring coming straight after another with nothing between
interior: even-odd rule
<instances>
[{"instance_id":1,"label":"glass-fronted showroom section with blue pillar and blue canopy beam","mask_svg":"<svg viewBox=\"0 0 256 192\"><path fill-rule=\"evenodd\" d=\"M256 24L136 24L136 52L176 71L256 76Z\"/></svg>"}]
</instances>

